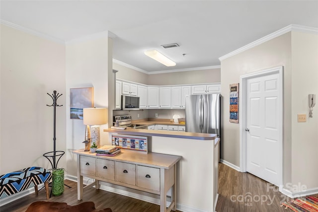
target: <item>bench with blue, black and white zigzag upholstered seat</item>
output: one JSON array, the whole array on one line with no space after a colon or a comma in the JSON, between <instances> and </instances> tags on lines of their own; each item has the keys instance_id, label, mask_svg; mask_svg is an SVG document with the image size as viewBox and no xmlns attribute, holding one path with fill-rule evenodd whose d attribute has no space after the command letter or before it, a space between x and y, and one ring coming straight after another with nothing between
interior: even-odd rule
<instances>
[{"instance_id":1,"label":"bench with blue, black and white zigzag upholstered seat","mask_svg":"<svg viewBox=\"0 0 318 212\"><path fill-rule=\"evenodd\" d=\"M28 167L0 176L0 199L27 190L34 186L38 195L38 185L44 183L46 199L50 199L49 180L52 173L41 167Z\"/></svg>"}]
</instances>

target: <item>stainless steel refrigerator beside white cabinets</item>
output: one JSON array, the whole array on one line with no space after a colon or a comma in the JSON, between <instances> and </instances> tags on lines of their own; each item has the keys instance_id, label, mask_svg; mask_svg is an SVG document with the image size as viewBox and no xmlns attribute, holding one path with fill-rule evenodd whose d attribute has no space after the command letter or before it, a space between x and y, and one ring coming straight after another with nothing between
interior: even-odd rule
<instances>
[{"instance_id":1,"label":"stainless steel refrigerator beside white cabinets","mask_svg":"<svg viewBox=\"0 0 318 212\"><path fill-rule=\"evenodd\" d=\"M211 133L220 137L221 94L185 97L185 132Z\"/></svg>"}]
</instances>

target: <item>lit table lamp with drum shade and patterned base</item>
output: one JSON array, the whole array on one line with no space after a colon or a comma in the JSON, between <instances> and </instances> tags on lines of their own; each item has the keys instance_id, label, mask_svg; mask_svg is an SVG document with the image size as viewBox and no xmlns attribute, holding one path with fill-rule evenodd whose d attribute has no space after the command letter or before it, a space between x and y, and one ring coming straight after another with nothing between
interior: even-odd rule
<instances>
[{"instance_id":1,"label":"lit table lamp with drum shade and patterned base","mask_svg":"<svg viewBox=\"0 0 318 212\"><path fill-rule=\"evenodd\" d=\"M107 124L107 114L107 108L83 108L83 124L86 125L85 141L89 141L90 139L90 145L92 145L95 142L96 145L99 147L99 125ZM89 125L92 125L90 129Z\"/></svg>"}]
</instances>

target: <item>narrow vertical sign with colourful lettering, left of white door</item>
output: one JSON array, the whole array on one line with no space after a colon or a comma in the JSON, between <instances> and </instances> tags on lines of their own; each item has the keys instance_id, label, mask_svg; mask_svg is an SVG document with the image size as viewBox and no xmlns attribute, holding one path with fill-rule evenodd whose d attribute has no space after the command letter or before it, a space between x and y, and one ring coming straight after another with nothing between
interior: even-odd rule
<instances>
[{"instance_id":1,"label":"narrow vertical sign with colourful lettering, left of white door","mask_svg":"<svg viewBox=\"0 0 318 212\"><path fill-rule=\"evenodd\" d=\"M230 84L230 122L239 123L239 83Z\"/></svg>"}]
</instances>

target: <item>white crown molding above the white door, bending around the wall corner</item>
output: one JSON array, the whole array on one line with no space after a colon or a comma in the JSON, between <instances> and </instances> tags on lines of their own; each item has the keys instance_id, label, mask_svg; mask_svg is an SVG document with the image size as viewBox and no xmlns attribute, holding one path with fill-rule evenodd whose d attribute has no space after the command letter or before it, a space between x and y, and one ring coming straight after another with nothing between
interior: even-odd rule
<instances>
[{"instance_id":1,"label":"white crown molding above the white door, bending around the wall corner","mask_svg":"<svg viewBox=\"0 0 318 212\"><path fill-rule=\"evenodd\" d=\"M239 48L239 49L237 49L237 50L235 50L235 51L233 51L233 52L231 52L229 54L226 54L226 55L220 57L219 60L223 61L223 60L225 60L227 58L230 58L230 57L232 57L234 55L237 55L237 54L239 54L241 52L244 52L244 51L246 51L248 49L251 49L251 48L253 48L255 46L258 46L258 45L260 45L262 43L265 43L265 42L267 42L267 41L269 41L269 40L271 40L273 38L276 38L278 36L281 36L281 35L283 35L283 34L285 34L287 32L291 32L291 31L318 34L318 28L291 24L291 25L288 25L288 26L286 26L286 27L284 27L284 28L282 28L280 30L277 30L276 32L273 32L273 33L271 33L269 35L266 35L265 37L262 37L262 38L254 41L254 42L252 42L250 44L247 44L247 45L245 45L245 46L243 46L243 47L241 47L241 48Z\"/></svg>"}]
</instances>

